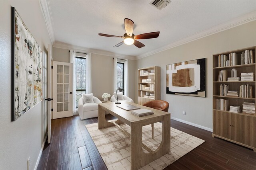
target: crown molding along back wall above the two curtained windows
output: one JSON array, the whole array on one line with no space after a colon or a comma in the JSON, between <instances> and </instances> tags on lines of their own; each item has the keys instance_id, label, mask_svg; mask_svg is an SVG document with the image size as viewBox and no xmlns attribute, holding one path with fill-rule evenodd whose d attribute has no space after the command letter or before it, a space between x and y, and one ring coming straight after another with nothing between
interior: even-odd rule
<instances>
[{"instance_id":1,"label":"crown molding along back wall above the two curtained windows","mask_svg":"<svg viewBox=\"0 0 256 170\"><path fill-rule=\"evenodd\" d=\"M77 52L81 53L92 53L92 54L98 54L98 55L106 55L108 57L118 57L120 59L128 59L128 60L136 60L135 56L132 55L122 55L122 54L117 54L117 53L112 53L109 51L104 51L104 50L98 50L98 49L89 49L81 46L76 46L76 45L70 45L62 42L55 42L52 45L55 48L60 48L60 49L68 49L68 50L74 50Z\"/></svg>"}]
</instances>

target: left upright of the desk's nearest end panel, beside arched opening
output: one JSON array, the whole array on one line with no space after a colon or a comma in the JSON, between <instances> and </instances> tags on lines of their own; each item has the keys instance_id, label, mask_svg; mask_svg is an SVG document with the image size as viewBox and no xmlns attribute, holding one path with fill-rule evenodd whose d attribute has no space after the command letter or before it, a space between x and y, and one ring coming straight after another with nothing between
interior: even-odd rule
<instances>
[{"instance_id":1,"label":"left upright of the desk's nearest end panel, beside arched opening","mask_svg":"<svg viewBox=\"0 0 256 170\"><path fill-rule=\"evenodd\" d=\"M141 168L142 123L131 124L131 170Z\"/></svg>"}]
</instances>

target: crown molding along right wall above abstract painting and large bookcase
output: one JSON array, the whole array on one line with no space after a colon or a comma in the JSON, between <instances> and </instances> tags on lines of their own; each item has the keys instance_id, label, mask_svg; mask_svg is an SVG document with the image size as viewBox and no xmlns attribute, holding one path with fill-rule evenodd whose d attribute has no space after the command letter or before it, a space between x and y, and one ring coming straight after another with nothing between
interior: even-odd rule
<instances>
[{"instance_id":1,"label":"crown molding along right wall above abstract painting and large bookcase","mask_svg":"<svg viewBox=\"0 0 256 170\"><path fill-rule=\"evenodd\" d=\"M180 39L178 41L175 41L173 43L170 43L169 45L166 45L166 46L161 47L159 49L156 49L154 51L150 51L148 53L144 53L142 55L138 55L136 57L136 60L142 59L144 57L148 57L150 55L159 53L161 51L165 51L165 50L168 50L168 49L180 46L182 44L186 44L186 43L189 43L191 41L195 41L197 39L200 39L200 38L203 38L203 37L207 37L209 35L212 35L212 34L215 34L215 33L221 32L221 31L225 31L227 29L230 29L230 28L233 28L233 27L236 27L236 26L239 26L239 25L251 22L251 21L255 21L255 20L256 20L256 11L251 12L249 14L246 14L244 16L238 17L238 18L236 18L234 20L230 20L230 21L228 21L226 23L214 26L214 27L212 27L210 29L206 29L204 31L200 31L198 33L195 33L193 35L190 35L188 37L185 37L185 38Z\"/></svg>"}]
</instances>

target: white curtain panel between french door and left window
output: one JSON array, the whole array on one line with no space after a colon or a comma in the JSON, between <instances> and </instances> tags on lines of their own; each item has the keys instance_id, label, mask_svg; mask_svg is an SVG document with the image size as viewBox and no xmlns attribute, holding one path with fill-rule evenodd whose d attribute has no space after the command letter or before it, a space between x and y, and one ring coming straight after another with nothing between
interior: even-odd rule
<instances>
[{"instance_id":1,"label":"white curtain panel between french door and left window","mask_svg":"<svg viewBox=\"0 0 256 170\"><path fill-rule=\"evenodd\" d=\"M73 113L76 113L76 53L73 50L70 50L70 63L73 64Z\"/></svg>"}]
</instances>

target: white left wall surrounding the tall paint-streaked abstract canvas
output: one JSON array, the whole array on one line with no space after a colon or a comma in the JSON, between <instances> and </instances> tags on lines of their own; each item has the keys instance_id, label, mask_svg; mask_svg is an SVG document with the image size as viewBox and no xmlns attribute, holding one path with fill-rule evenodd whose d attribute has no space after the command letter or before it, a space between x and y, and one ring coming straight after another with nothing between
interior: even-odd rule
<instances>
[{"instance_id":1,"label":"white left wall surrounding the tall paint-streaked abstract canvas","mask_svg":"<svg viewBox=\"0 0 256 170\"><path fill-rule=\"evenodd\" d=\"M16 8L44 53L51 41L39 1L0 1L0 169L26 170L28 157L30 169L36 166L46 135L47 115L43 100L11 121L11 6Z\"/></svg>"}]
</instances>

